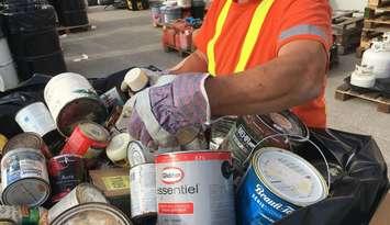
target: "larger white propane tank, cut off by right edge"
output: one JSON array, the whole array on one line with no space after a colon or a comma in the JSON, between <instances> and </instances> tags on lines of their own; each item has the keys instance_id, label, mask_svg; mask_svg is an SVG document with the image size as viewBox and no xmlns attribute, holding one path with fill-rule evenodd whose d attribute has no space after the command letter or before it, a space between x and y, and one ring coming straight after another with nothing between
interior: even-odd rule
<instances>
[{"instance_id":1,"label":"larger white propane tank, cut off by right edge","mask_svg":"<svg viewBox=\"0 0 390 225\"><path fill-rule=\"evenodd\" d=\"M372 46L363 54L361 65L372 66L377 79L390 78L390 32L383 35L383 41L372 42Z\"/></svg>"}]
</instances>

